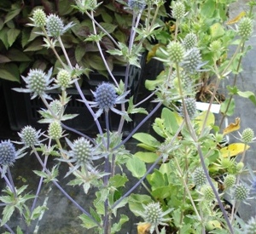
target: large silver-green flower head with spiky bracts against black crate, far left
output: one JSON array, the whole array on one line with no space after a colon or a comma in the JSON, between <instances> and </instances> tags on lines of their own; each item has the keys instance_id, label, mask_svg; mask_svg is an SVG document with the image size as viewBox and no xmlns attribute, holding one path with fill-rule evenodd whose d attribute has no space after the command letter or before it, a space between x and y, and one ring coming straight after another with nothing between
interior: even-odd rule
<instances>
[{"instance_id":1,"label":"large silver-green flower head with spiky bracts against black crate, far left","mask_svg":"<svg viewBox=\"0 0 256 234\"><path fill-rule=\"evenodd\" d=\"M47 74L40 69L31 69L28 72L27 77L22 77L26 83L26 88L14 88L14 90L31 93L31 99L34 99L37 96L44 96L46 99L51 99L49 95L45 94L45 91L55 88L49 87L49 84L53 81L53 79L50 78L51 72L52 68L49 69Z\"/></svg>"}]
</instances>

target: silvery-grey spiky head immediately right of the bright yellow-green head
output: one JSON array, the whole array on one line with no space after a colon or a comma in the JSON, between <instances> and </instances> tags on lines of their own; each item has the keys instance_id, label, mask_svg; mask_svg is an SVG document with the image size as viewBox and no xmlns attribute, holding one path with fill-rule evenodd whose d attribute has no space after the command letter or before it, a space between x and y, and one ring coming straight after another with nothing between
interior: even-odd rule
<instances>
[{"instance_id":1,"label":"silvery-grey spiky head immediately right of the bright yellow-green head","mask_svg":"<svg viewBox=\"0 0 256 234\"><path fill-rule=\"evenodd\" d=\"M184 56L182 66L185 71L190 73L199 71L202 66L200 50L197 48L189 49Z\"/></svg>"}]
</instances>

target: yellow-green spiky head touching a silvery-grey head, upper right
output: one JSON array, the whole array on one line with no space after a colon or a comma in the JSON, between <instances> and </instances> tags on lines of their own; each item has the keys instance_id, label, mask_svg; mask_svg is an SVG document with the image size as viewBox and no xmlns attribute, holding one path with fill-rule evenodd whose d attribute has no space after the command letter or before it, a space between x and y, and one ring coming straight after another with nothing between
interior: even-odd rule
<instances>
[{"instance_id":1,"label":"yellow-green spiky head touching a silvery-grey head, upper right","mask_svg":"<svg viewBox=\"0 0 256 234\"><path fill-rule=\"evenodd\" d=\"M183 61L185 50L183 45L179 42L171 42L167 45L167 52L169 58L173 63L180 63Z\"/></svg>"}]
</instances>

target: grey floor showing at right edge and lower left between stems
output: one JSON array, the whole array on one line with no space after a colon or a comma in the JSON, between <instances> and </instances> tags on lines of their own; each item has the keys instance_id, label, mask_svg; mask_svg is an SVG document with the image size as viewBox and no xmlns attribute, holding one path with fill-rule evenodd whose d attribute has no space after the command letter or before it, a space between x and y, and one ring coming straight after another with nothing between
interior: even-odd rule
<instances>
[{"instance_id":1,"label":"grey floor showing at right edge and lower left between stems","mask_svg":"<svg viewBox=\"0 0 256 234\"><path fill-rule=\"evenodd\" d=\"M236 16L239 14L242 10L246 9L245 3L249 2L247 0L239 0L239 3L231 4L230 5L230 18L233 16ZM254 25L254 33L256 33L256 24ZM255 66L255 57L256 57L256 40L255 37L250 39L248 41L249 44L253 45L253 49L250 50L247 54L247 58L243 60L242 66L243 66L243 72L239 76L238 86L240 87L241 91L250 90L253 93L255 93L256 90L256 66ZM151 74L152 75L152 74ZM230 77L231 81L232 77ZM253 128L255 134L256 134L256 106L253 105L253 103L250 100L245 100L243 98L236 98L236 113L234 117L230 118L229 122L233 122L235 117L241 118L241 131L244 128ZM145 128L148 128L146 126ZM11 133L11 137L15 137L15 134ZM235 141L234 138L230 139L230 142ZM130 144L130 145L129 145ZM130 142L128 144L128 148L131 150L134 150L136 148L135 142ZM246 163L248 163L253 170L256 171L256 143L251 145L251 148L249 151L247 151L247 157L246 157ZM24 177L28 182L32 185L37 184L37 178L34 174L29 173L31 171L31 168L39 169L38 163L36 163L36 160L34 158L30 158L28 160L20 160L19 165L15 165L15 167L19 168L25 168L24 169ZM27 168L27 170L26 170ZM15 168L14 168L15 170ZM63 168L62 171L65 171L66 169ZM246 180L246 177L244 178ZM19 183L18 174L15 175L15 182ZM66 181L63 181L63 185ZM131 184L135 181L131 181ZM48 207L49 210L45 212L44 218L40 221L40 228L37 233L41 234L58 234L58 233L92 233L90 231L84 231L83 228L81 228L79 224L79 220L75 220L74 217L77 217L79 215L79 212L76 208L73 207L73 204L68 202L66 198L63 198L60 191L56 190L55 188L49 189L49 187L44 188L44 193L48 193L49 196L53 199L49 199L48 201ZM77 190L76 188L73 188L69 186L68 192L72 195L73 198L77 199L79 203L84 205L84 208L88 207L88 200L90 200L91 197L85 197L83 192ZM93 194L91 195L93 196ZM62 197L62 198L59 198ZM248 205L241 205L240 208L240 214L241 218L243 220L248 220L250 217L256 215L256 206L255 206L255 199L252 200L251 206ZM40 200L41 203L44 202L44 200ZM132 217L132 215L131 215ZM137 223L137 220L132 220L132 224ZM20 220L13 220L12 226L15 227L20 223ZM0 233L3 233L3 228L0 227ZM120 233L127 233L130 234L137 233L137 227L136 225L125 225L125 231L122 231Z\"/></svg>"}]
</instances>

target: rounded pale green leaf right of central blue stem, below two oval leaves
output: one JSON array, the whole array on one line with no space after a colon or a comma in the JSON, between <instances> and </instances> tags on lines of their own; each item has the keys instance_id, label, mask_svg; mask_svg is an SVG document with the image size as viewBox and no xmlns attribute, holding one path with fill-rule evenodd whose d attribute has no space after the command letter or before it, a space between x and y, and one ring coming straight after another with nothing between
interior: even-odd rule
<instances>
[{"instance_id":1,"label":"rounded pale green leaf right of central blue stem, below two oval leaves","mask_svg":"<svg viewBox=\"0 0 256 234\"><path fill-rule=\"evenodd\" d=\"M145 163L135 156L128 160L126 167L131 171L131 174L138 179L142 178L147 171Z\"/></svg>"}]
</instances>

